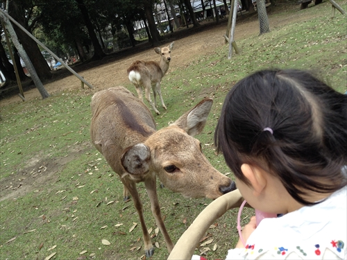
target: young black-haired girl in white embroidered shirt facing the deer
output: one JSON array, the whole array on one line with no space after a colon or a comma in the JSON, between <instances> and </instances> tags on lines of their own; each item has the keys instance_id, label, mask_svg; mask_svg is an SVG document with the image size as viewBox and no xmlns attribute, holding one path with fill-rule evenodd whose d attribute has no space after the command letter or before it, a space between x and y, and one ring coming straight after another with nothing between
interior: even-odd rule
<instances>
[{"instance_id":1,"label":"young black-haired girl in white embroidered shirt facing the deer","mask_svg":"<svg viewBox=\"0 0 347 260\"><path fill-rule=\"evenodd\" d=\"M347 259L347 95L311 73L258 71L228 93L214 135L260 211L226 259Z\"/></svg>"}]
</instances>

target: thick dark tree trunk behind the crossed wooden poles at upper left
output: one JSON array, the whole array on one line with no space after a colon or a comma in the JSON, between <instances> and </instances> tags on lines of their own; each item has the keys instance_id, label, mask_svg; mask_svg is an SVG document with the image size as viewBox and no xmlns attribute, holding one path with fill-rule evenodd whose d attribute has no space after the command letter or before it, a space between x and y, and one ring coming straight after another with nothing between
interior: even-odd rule
<instances>
[{"instance_id":1,"label":"thick dark tree trunk behind the crossed wooden poles at upper left","mask_svg":"<svg viewBox=\"0 0 347 260\"><path fill-rule=\"evenodd\" d=\"M19 10L19 6L15 1L9 1L8 3L8 14L15 19L20 25L26 28L27 31L30 31L28 25L25 21L25 15L22 10ZM42 55L39 47L36 42L31 39L21 28L16 25L13 25L15 29L15 33L22 44L24 51L28 55L28 58L31 60L33 67L35 67L35 71L37 76L39 76L42 80L52 78L51 68L47 64L44 56Z\"/></svg>"}]
</instances>

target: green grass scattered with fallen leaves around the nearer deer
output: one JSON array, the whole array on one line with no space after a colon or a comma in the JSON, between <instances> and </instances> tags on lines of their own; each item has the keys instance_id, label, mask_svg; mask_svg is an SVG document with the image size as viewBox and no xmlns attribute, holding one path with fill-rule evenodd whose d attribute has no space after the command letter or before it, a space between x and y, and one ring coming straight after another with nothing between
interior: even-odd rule
<instances>
[{"instance_id":1,"label":"green grass scattered with fallen leaves around the nearer deer","mask_svg":"<svg viewBox=\"0 0 347 260\"><path fill-rule=\"evenodd\" d=\"M347 10L346 0L337 3ZM237 80L268 67L312 69L344 93L346 17L336 12L332 19L330 3L305 10L295 6L274 15L285 19L299 12L307 19L281 28L275 26L265 35L238 40L242 53L233 54L231 60L227 58L226 45L209 50L208 54L201 53L187 69L169 73L162 85L168 110L154 115L158 129L175 121L203 97L213 97L208 123L197 138L211 164L221 173L229 173L223 157L214 154L213 133L223 99ZM130 83L126 87L133 91ZM95 254L95 259L142 257L142 232L133 202L124 204L118 176L90 144L90 93L76 90L44 101L37 98L2 106L1 116L1 198L10 191L21 191L27 183L31 183L31 189L0 202L0 259L44 259L53 252L56 254L52 259L78 259L84 250L87 259L92 258L90 254ZM26 185L18 187L21 183ZM144 185L138 187L146 224L153 228L153 234L155 220L150 202ZM174 242L211 202L183 198L167 189L158 189L158 196ZM244 223L252 214L251 209L244 211ZM218 248L209 251L206 258L223 259L227 250L235 246L236 216L237 209L233 209L217 220L216 228L208 230L214 239L210 248L214 243ZM119 223L123 225L116 227ZM133 223L138 225L129 232ZM12 238L15 239L10 241ZM102 239L111 245L103 245ZM160 245L152 259L166 259L168 252L162 234L152 241ZM56 248L49 250L54 245ZM131 248L135 249L130 251Z\"/></svg>"}]
</instances>

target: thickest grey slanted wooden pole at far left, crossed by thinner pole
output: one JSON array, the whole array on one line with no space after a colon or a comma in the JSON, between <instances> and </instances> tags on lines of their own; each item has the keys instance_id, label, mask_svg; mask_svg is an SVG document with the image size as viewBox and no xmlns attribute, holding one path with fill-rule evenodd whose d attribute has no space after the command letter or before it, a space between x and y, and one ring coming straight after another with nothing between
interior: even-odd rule
<instances>
[{"instance_id":1,"label":"thickest grey slanted wooden pole at far left, crossed by thinner pole","mask_svg":"<svg viewBox=\"0 0 347 260\"><path fill-rule=\"evenodd\" d=\"M3 15L2 12L0 12L0 17L3 21L3 24L6 25L6 28L8 29L8 33L10 33L10 35L11 35L13 45L15 45L16 49L19 52L19 55L24 60L24 63L26 64L26 69L28 69L28 72L30 73L31 79L33 80L33 83L35 84L35 86L39 90L42 98L43 99L48 98L49 94L48 94L48 92L46 92L46 89L42 85L42 82L41 82L39 76L37 75L35 68L33 67L33 64L31 63L31 60L28 58L28 55L26 55L26 52L24 51L22 44L19 43L18 37L15 33L15 29L12 27L12 24L10 23L8 18L5 15ZM21 66L20 63L19 63L19 66ZM48 66L48 64L47 64L47 66Z\"/></svg>"}]
</instances>

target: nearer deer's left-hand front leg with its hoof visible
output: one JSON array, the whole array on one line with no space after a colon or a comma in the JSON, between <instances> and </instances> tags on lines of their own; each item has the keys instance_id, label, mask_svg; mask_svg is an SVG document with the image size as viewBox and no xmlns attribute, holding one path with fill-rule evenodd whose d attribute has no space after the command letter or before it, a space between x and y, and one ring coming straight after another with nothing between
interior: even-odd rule
<instances>
[{"instance_id":1,"label":"nearer deer's left-hand front leg with its hoof visible","mask_svg":"<svg viewBox=\"0 0 347 260\"><path fill-rule=\"evenodd\" d=\"M139 222L141 223L142 227L142 234L144 239L144 253L146 254L146 257L151 257L154 254L154 248L151 241L151 236L149 236L149 232L146 227L146 223L144 223L144 213L143 213L143 205L141 200L139 199L139 193L137 193L136 184L135 182L126 182L123 181L124 187L128 189L131 196L133 197L133 202L135 205L135 208L137 210L137 214L139 215Z\"/></svg>"}]
</instances>

